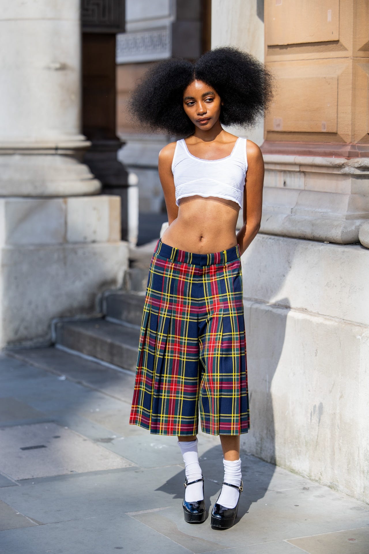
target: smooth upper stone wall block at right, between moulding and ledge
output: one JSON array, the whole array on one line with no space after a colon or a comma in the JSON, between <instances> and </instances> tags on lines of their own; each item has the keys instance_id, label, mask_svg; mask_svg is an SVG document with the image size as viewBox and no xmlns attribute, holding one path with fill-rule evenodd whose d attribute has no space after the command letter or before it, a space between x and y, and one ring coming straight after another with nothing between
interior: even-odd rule
<instances>
[{"instance_id":1,"label":"smooth upper stone wall block at right, between moulding and ledge","mask_svg":"<svg viewBox=\"0 0 369 554\"><path fill-rule=\"evenodd\" d=\"M369 324L368 251L259 233L242 255L243 295Z\"/></svg>"}]
</instances>

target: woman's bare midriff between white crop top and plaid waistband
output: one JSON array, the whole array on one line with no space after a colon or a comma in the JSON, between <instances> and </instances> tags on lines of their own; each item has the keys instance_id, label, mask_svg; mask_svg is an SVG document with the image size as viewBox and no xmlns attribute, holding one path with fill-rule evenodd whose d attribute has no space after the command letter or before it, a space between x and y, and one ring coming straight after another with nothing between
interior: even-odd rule
<instances>
[{"instance_id":1,"label":"woman's bare midriff between white crop top and plaid waistband","mask_svg":"<svg viewBox=\"0 0 369 554\"><path fill-rule=\"evenodd\" d=\"M227 250L237 244L237 202L214 196L180 198L178 216L161 240L169 246L197 254Z\"/></svg>"}]
</instances>

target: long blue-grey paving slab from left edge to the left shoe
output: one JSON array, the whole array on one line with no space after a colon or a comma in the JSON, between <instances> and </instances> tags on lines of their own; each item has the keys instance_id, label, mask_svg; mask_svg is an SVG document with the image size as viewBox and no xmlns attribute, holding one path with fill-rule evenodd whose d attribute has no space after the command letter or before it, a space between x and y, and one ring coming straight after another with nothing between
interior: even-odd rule
<instances>
[{"instance_id":1,"label":"long blue-grey paving slab from left edge to the left shoe","mask_svg":"<svg viewBox=\"0 0 369 554\"><path fill-rule=\"evenodd\" d=\"M181 514L183 476L178 466L168 466L29 479L0 489L0 499L43 524L163 506L174 506Z\"/></svg>"}]
</instances>

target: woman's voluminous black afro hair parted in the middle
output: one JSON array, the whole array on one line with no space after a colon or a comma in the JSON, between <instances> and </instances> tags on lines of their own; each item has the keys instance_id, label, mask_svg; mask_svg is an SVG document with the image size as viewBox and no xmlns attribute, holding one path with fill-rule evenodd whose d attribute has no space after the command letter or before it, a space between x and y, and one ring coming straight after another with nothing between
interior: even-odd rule
<instances>
[{"instance_id":1,"label":"woman's voluminous black afro hair parted in the middle","mask_svg":"<svg viewBox=\"0 0 369 554\"><path fill-rule=\"evenodd\" d=\"M153 132L193 134L195 125L184 111L183 91L195 79L219 94L224 125L253 125L273 96L273 76L264 64L234 46L222 46L205 52L195 63L169 58L151 66L129 95L129 119Z\"/></svg>"}]
</instances>

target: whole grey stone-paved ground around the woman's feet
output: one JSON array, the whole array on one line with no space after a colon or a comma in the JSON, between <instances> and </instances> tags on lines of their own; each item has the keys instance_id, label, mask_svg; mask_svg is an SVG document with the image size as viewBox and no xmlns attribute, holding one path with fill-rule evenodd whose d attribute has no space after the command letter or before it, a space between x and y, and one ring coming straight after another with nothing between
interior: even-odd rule
<instances>
[{"instance_id":1,"label":"whole grey stone-paved ground around the woman's feet","mask_svg":"<svg viewBox=\"0 0 369 554\"><path fill-rule=\"evenodd\" d=\"M30 365L0 354L0 404L6 403L0 433L8 433L0 439L9 437L8 454L1 458L0 453L0 510L8 527L0 532L1 553L369 554L368 505L245 452L236 524L225 532L212 530L209 510L223 479L222 450L219 437L201 432L207 519L202 525L186 524L184 464L176 437L128 424L131 375L116 377L115 370L104 373L89 363L82 367L75 359L65 365L64 373L61 358L52 366L49 350L37 362L42 358L43 367L35 365L35 358ZM43 417L49 422L37 423ZM66 433L64 448L50 456L49 472L46 451L51 452L60 438L50 436L51 427L41 429L42 425L63 429L54 434ZM39 434L26 432L37 427ZM20 450L23 445L37 446L22 442L31 438L45 447ZM107 456L98 469L93 465L96 449ZM38 459L34 465L39 474L24 463L31 456ZM111 456L123 460L123 466L111 466ZM70 471L75 469L71 463L59 473L64 459L75 460L72 465L79 473ZM26 473L14 481L14 475L22 475L16 473L19 466Z\"/></svg>"}]
</instances>

